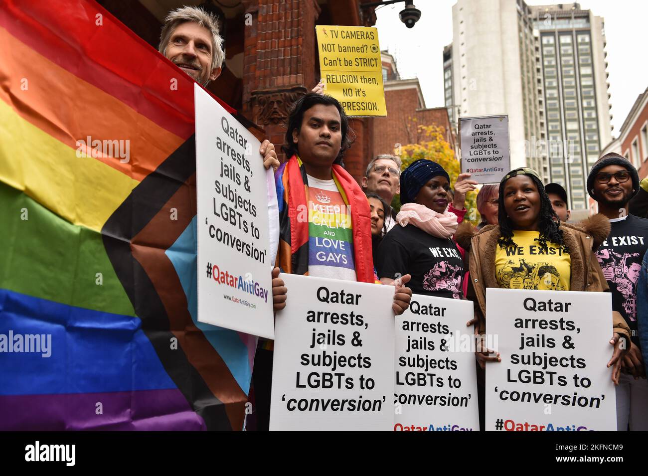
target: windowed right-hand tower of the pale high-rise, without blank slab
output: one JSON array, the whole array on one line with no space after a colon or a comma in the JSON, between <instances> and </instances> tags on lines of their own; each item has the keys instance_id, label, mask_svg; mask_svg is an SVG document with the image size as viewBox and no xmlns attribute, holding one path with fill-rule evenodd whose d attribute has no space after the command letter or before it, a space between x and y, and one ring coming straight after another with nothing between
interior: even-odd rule
<instances>
[{"instance_id":1,"label":"windowed right-hand tower of the pale high-rise, without blank slab","mask_svg":"<svg viewBox=\"0 0 648 476\"><path fill-rule=\"evenodd\" d=\"M603 18L578 3L531 11L539 32L546 135L554 146L546 178L567 190L573 210L584 210L589 170L612 141Z\"/></svg>"}]
</instances>

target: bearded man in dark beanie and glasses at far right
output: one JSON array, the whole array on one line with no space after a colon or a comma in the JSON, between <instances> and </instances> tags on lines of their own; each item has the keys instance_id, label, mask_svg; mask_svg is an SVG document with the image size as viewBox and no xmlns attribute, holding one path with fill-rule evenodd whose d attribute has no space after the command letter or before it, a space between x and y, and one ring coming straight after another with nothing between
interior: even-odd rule
<instances>
[{"instance_id":1,"label":"bearded man in dark beanie and glasses at far right","mask_svg":"<svg viewBox=\"0 0 648 476\"><path fill-rule=\"evenodd\" d=\"M631 347L623 359L616 387L617 429L648 430L648 383L637 334L636 295L642 258L648 249L648 220L628 213L630 199L639 192L636 168L618 153L603 155L587 177L587 191L610 220L612 229L596 256L612 291L612 310L631 329Z\"/></svg>"}]
</instances>

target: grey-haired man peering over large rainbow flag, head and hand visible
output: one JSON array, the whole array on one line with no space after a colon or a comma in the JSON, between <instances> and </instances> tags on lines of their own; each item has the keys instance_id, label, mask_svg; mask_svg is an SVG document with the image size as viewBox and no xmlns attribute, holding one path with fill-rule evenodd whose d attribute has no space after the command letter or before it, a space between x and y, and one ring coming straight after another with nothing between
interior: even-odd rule
<instances>
[{"instance_id":1,"label":"grey-haired man peering over large rainbow flag, head and hand visible","mask_svg":"<svg viewBox=\"0 0 648 476\"><path fill-rule=\"evenodd\" d=\"M203 87L218 78L225 60L218 19L197 6L182 6L169 12L164 23L158 51ZM264 166L277 170L274 144L266 139L259 152Z\"/></svg>"}]
</instances>

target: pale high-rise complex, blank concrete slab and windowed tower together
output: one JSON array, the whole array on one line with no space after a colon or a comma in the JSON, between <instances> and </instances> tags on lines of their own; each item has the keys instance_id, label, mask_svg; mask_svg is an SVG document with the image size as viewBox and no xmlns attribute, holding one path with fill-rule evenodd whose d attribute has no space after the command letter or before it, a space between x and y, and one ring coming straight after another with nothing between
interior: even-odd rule
<instances>
[{"instance_id":1,"label":"pale high-rise complex, blank concrete slab and windowed tower together","mask_svg":"<svg viewBox=\"0 0 648 476\"><path fill-rule=\"evenodd\" d=\"M612 139L603 19L577 3L458 0L452 23L443 49L451 120L507 114L511 168L561 183L574 218L586 215L587 171Z\"/></svg>"}]
</instances>

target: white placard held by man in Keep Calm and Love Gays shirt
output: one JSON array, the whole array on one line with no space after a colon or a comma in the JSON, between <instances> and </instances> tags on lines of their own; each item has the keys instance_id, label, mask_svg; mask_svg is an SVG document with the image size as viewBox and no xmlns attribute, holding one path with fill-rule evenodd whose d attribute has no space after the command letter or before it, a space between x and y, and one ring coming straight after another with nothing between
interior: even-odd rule
<instances>
[{"instance_id":1,"label":"white placard held by man in Keep Calm and Love Gays shirt","mask_svg":"<svg viewBox=\"0 0 648 476\"><path fill-rule=\"evenodd\" d=\"M393 286L280 276L270 430L391 430Z\"/></svg>"}]
</instances>

